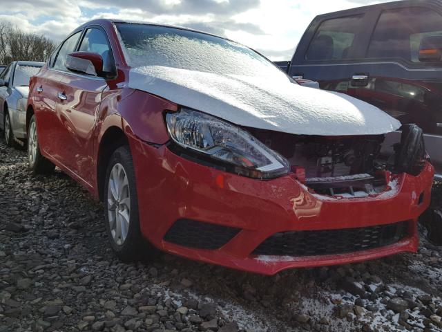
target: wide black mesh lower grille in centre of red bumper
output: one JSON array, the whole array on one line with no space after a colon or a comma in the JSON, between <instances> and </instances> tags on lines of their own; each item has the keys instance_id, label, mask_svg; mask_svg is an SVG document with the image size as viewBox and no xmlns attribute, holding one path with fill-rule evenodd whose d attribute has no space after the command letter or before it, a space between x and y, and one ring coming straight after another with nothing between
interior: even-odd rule
<instances>
[{"instance_id":1,"label":"wide black mesh lower grille in centre of red bumper","mask_svg":"<svg viewBox=\"0 0 442 332\"><path fill-rule=\"evenodd\" d=\"M368 250L396 243L407 235L408 222L340 230L303 230L273 234L254 255L319 256Z\"/></svg>"}]
</instances>

